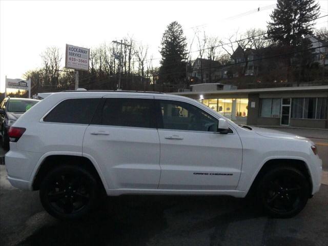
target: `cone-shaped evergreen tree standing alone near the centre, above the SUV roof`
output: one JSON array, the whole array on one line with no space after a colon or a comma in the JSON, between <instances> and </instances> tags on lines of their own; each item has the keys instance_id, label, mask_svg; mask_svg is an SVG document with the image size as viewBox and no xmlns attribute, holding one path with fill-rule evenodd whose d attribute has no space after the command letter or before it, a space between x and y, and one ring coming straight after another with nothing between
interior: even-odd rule
<instances>
[{"instance_id":1,"label":"cone-shaped evergreen tree standing alone near the centre, above the SUV roof","mask_svg":"<svg viewBox=\"0 0 328 246\"><path fill-rule=\"evenodd\" d=\"M181 84L186 80L187 42L180 24L168 25L161 39L160 84Z\"/></svg>"}]
</instances>

